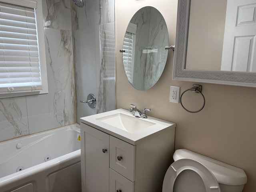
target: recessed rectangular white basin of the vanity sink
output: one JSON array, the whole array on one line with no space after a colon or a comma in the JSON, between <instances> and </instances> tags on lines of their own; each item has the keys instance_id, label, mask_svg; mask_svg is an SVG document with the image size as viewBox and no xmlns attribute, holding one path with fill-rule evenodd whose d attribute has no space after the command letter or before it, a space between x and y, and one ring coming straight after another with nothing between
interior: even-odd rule
<instances>
[{"instance_id":1,"label":"recessed rectangular white basin of the vanity sink","mask_svg":"<svg viewBox=\"0 0 256 192\"><path fill-rule=\"evenodd\" d=\"M116 113L106 117L97 118L97 120L130 133L134 133L155 124L154 122L149 122L123 113Z\"/></svg>"}]
</instances>

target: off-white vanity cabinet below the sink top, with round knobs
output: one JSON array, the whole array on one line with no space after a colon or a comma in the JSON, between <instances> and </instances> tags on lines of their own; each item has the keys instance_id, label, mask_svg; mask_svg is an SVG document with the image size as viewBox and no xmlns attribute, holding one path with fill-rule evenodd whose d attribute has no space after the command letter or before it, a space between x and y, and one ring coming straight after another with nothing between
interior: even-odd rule
<instances>
[{"instance_id":1,"label":"off-white vanity cabinet below the sink top, with round knobs","mask_svg":"<svg viewBox=\"0 0 256 192\"><path fill-rule=\"evenodd\" d=\"M81 118L82 192L162 191L175 126L132 141Z\"/></svg>"}]
</instances>

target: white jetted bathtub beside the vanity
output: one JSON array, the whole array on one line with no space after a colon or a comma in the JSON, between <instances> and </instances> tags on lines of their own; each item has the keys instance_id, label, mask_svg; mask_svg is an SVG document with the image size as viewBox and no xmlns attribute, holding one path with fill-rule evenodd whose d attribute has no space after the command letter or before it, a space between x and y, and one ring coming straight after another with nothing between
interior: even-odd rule
<instances>
[{"instance_id":1,"label":"white jetted bathtub beside the vanity","mask_svg":"<svg viewBox=\"0 0 256 192\"><path fill-rule=\"evenodd\" d=\"M81 192L80 126L0 143L0 192Z\"/></svg>"}]
</instances>

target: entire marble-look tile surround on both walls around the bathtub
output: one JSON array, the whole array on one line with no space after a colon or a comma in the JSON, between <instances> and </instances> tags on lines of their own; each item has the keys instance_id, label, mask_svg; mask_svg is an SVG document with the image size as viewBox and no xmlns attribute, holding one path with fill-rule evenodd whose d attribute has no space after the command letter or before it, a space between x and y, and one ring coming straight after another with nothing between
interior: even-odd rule
<instances>
[{"instance_id":1,"label":"entire marble-look tile surround on both walls around the bathtub","mask_svg":"<svg viewBox=\"0 0 256 192\"><path fill-rule=\"evenodd\" d=\"M114 0L42 2L49 93L0 99L0 142L115 109Z\"/></svg>"}]
</instances>

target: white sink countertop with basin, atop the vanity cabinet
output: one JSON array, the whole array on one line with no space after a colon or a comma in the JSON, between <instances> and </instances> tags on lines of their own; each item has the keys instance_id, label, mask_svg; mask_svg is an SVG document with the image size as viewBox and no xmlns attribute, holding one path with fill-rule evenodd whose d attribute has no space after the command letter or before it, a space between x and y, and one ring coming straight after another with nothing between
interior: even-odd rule
<instances>
[{"instance_id":1,"label":"white sink countertop with basin, atop the vanity cabinet","mask_svg":"<svg viewBox=\"0 0 256 192\"><path fill-rule=\"evenodd\" d=\"M176 127L173 122L148 116L138 118L129 110L116 109L80 118L80 122L132 145Z\"/></svg>"}]
</instances>

